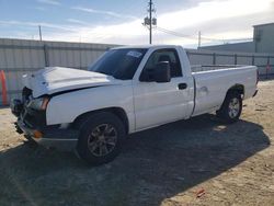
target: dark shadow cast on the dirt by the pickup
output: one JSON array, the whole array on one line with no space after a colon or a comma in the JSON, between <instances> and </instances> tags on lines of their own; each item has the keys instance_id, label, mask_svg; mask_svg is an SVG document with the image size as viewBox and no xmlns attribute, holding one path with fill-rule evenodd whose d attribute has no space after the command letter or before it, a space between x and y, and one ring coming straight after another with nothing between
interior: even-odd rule
<instances>
[{"instance_id":1,"label":"dark shadow cast on the dirt by the pickup","mask_svg":"<svg viewBox=\"0 0 274 206\"><path fill-rule=\"evenodd\" d=\"M122 154L98 168L20 145L0 153L0 205L160 205L267 148L262 129L203 115L130 135Z\"/></svg>"}]
</instances>

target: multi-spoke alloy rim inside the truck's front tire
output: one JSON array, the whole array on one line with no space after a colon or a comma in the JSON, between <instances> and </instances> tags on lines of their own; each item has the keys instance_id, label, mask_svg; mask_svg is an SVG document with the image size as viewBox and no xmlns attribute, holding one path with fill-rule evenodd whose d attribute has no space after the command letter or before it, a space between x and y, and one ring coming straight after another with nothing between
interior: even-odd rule
<instances>
[{"instance_id":1,"label":"multi-spoke alloy rim inside the truck's front tire","mask_svg":"<svg viewBox=\"0 0 274 206\"><path fill-rule=\"evenodd\" d=\"M96 126L88 137L88 147L95 157L112 152L117 142L117 130L111 124Z\"/></svg>"}]
</instances>

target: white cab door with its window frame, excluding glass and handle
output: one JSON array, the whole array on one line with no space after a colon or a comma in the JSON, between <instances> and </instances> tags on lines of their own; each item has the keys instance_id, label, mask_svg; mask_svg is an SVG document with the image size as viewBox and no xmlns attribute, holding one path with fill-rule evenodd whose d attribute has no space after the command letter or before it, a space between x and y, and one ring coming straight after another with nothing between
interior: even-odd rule
<instances>
[{"instance_id":1,"label":"white cab door with its window frame, excluding glass and handle","mask_svg":"<svg viewBox=\"0 0 274 206\"><path fill-rule=\"evenodd\" d=\"M171 82L140 82L139 76L150 55L157 49L174 48L182 65L183 77ZM186 90L179 90L179 83L186 83ZM185 52L179 46L151 47L134 77L136 130L144 130L178 119L189 118L194 106L194 82Z\"/></svg>"}]
</instances>

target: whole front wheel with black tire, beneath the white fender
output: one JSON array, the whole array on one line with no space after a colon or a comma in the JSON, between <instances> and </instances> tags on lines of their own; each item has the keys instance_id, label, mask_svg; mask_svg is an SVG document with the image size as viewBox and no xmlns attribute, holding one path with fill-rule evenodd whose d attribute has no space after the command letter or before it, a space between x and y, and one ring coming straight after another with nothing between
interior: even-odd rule
<instances>
[{"instance_id":1,"label":"whole front wheel with black tire, beneath the white fender","mask_svg":"<svg viewBox=\"0 0 274 206\"><path fill-rule=\"evenodd\" d=\"M125 139L125 126L114 114L100 112L88 116L80 125L77 152L92 165L114 160Z\"/></svg>"}]
</instances>

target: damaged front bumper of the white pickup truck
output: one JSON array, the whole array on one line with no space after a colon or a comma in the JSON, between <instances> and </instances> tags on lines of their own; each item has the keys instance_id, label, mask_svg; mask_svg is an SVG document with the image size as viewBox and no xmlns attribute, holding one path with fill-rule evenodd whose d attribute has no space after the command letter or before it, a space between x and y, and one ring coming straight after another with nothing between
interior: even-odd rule
<instances>
[{"instance_id":1,"label":"damaged front bumper of the white pickup truck","mask_svg":"<svg viewBox=\"0 0 274 206\"><path fill-rule=\"evenodd\" d=\"M18 104L11 104L12 113L18 116L19 111L14 111L14 107L20 107ZM22 114L22 111L21 111ZM26 119L27 115L18 116L18 121L14 123L16 131L24 134L28 139L33 139L38 145L45 148L55 148L61 151L72 151L77 147L79 131L71 128L59 128L58 126L37 126L30 124ZM32 116L35 119L35 116Z\"/></svg>"}]
</instances>

